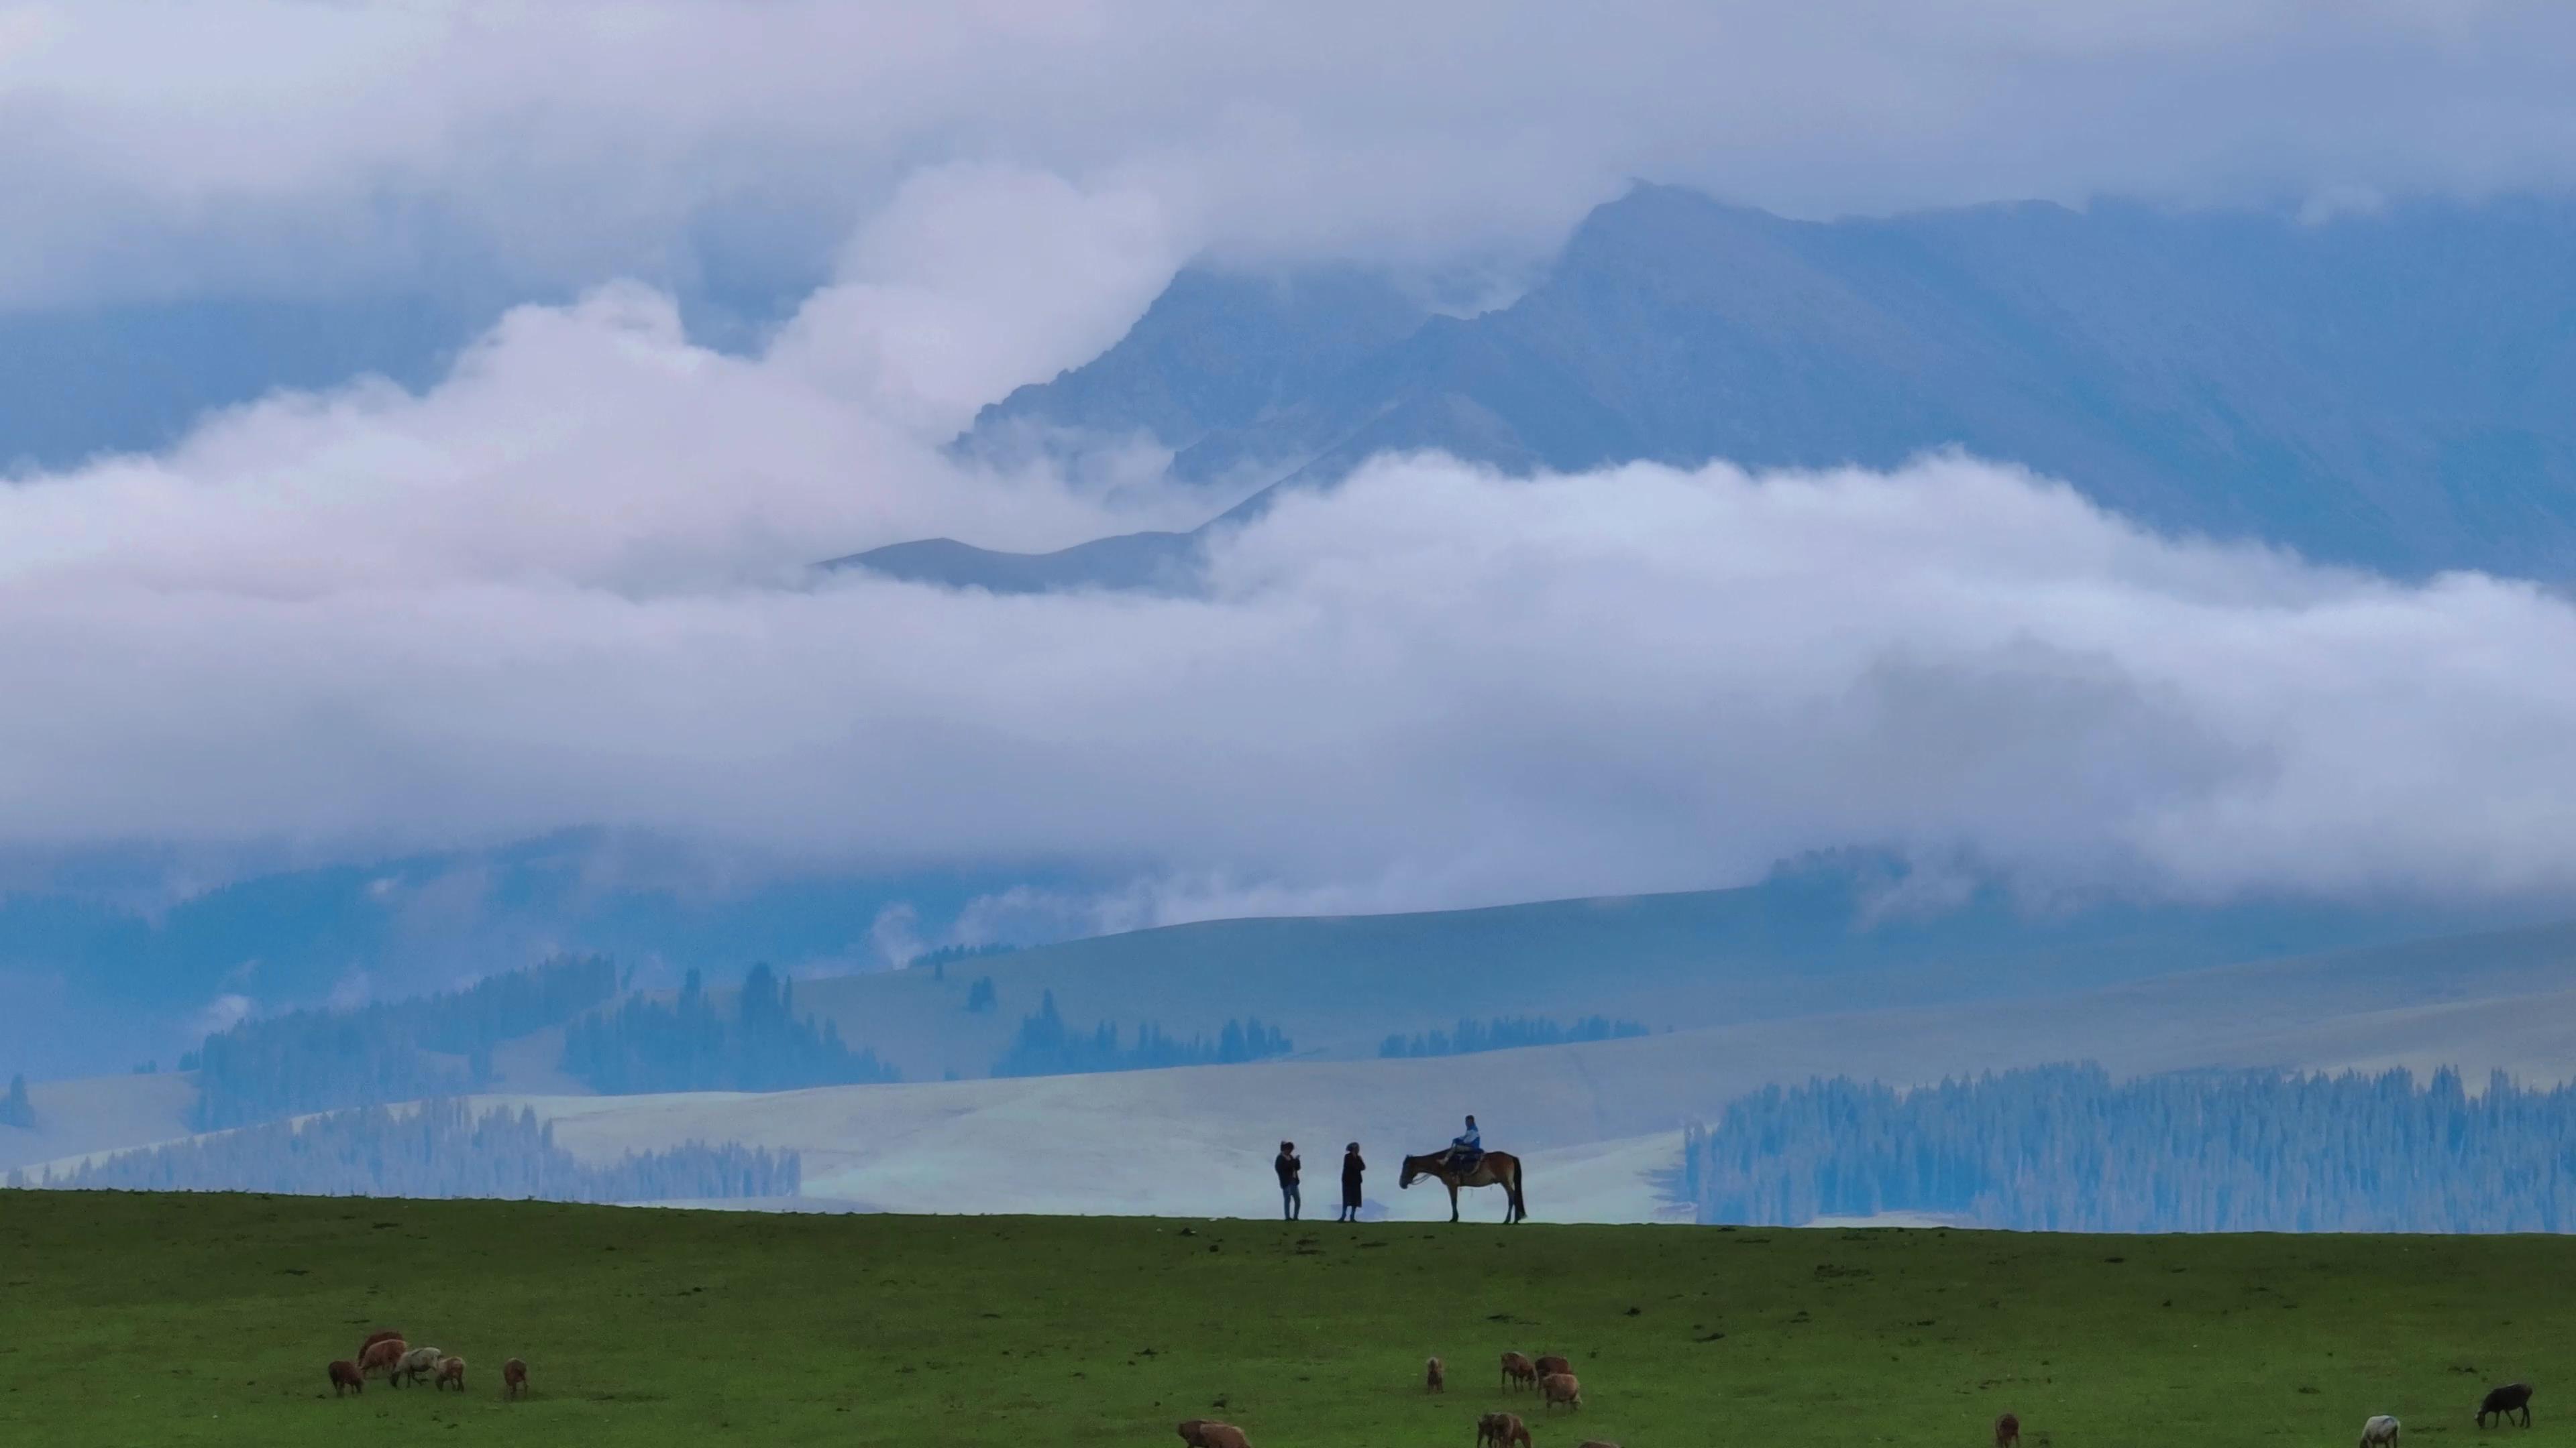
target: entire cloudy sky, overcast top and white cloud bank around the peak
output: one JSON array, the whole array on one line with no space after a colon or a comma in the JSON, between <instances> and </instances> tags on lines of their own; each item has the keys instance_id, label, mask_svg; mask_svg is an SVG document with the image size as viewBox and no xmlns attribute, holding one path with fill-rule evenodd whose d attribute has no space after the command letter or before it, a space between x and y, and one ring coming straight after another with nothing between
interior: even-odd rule
<instances>
[{"instance_id":1,"label":"entire cloudy sky, overcast top and white cloud bank around the peak","mask_svg":"<svg viewBox=\"0 0 2576 1448\"><path fill-rule=\"evenodd\" d=\"M0 848L611 827L1036 861L1141 920L1692 889L2576 886L2576 608L2156 538L2014 459L1383 459L1203 598L806 564L1195 526L943 443L1193 258L1492 268L1633 178L1795 214L2576 183L2563 5L0 5L0 314L518 299L0 484ZM783 289L711 348L703 289ZM26 701L39 701L26 706Z\"/></svg>"}]
</instances>

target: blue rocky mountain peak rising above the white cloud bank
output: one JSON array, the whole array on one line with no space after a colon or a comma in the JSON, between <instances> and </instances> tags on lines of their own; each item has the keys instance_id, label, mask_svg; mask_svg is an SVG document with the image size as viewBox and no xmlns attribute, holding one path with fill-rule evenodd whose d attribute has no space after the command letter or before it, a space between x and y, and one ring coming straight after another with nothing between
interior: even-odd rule
<instances>
[{"instance_id":1,"label":"blue rocky mountain peak rising above the white cloud bank","mask_svg":"<svg viewBox=\"0 0 2576 1448\"><path fill-rule=\"evenodd\" d=\"M1012 394L969 443L1043 417L1151 433L1177 477L1296 484L1404 448L1533 472L1891 466L1955 443L2156 528L2409 575L2568 577L2568 255L2571 201L2324 224L2115 204L1788 222L1643 186L1597 209L1515 304L1427 317L1340 368L1265 371L1278 392L1262 407L1110 402L1108 379L1229 348L1229 317L1200 309L1185 350L1141 322ZM1206 286L1190 273L1175 294ZM1270 356L1280 330L1260 317L1239 348ZM1015 569L971 551L860 559L999 590L1123 587L1167 580L1193 544L1139 546L1154 567L1136 549L1105 572L1061 554Z\"/></svg>"}]
</instances>

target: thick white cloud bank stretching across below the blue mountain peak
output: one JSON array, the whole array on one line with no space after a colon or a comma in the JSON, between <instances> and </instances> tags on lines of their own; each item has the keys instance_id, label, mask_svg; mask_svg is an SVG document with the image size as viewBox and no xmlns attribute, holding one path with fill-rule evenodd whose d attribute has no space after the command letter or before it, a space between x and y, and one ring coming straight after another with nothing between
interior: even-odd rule
<instances>
[{"instance_id":1,"label":"thick white cloud bank stretching across below the blue mountain peak","mask_svg":"<svg viewBox=\"0 0 2576 1448\"><path fill-rule=\"evenodd\" d=\"M1097 224L1077 258L1157 224L961 186ZM0 678L39 701L0 711L0 850L603 824L1136 879L992 904L1121 922L1685 889L1839 845L2035 889L2576 886L2576 683L2530 667L2576 647L2563 598L2159 538L1976 459L1381 459L1221 538L1203 598L817 580L902 536L1200 508L974 472L914 425L930 394L819 366L922 307L1007 312L1005 263L860 250L866 289L765 356L621 286L513 314L422 397L281 397L0 490ZM1033 335L1092 345L1133 289ZM974 356L979 386L1043 366Z\"/></svg>"}]
</instances>

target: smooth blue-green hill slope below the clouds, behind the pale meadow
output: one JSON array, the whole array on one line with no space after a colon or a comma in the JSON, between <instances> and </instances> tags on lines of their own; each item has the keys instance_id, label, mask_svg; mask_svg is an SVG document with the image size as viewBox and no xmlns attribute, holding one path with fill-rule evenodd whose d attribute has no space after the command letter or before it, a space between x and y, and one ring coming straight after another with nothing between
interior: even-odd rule
<instances>
[{"instance_id":1,"label":"smooth blue-green hill slope below the clouds, behind the pale meadow","mask_svg":"<svg viewBox=\"0 0 2576 1448\"><path fill-rule=\"evenodd\" d=\"M1257 1015L1298 1056L1373 1056L1461 1018L1584 1015L1664 1028L2092 989L2112 982L2460 933L2460 917L2298 904L2030 912L1996 894L1932 915L1842 866L1747 889L1417 915L1208 920L984 961L801 982L796 1000L902 1067L981 1077L1054 995L1077 1031L1216 1036ZM976 979L994 1007L969 1013Z\"/></svg>"}]
</instances>

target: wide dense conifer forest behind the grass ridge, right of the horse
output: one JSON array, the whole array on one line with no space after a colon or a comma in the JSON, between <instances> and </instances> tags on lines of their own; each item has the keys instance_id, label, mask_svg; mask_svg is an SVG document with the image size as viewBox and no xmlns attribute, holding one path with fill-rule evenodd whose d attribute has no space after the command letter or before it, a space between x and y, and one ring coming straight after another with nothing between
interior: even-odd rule
<instances>
[{"instance_id":1,"label":"wide dense conifer forest behind the grass ridge, right of the horse","mask_svg":"<svg viewBox=\"0 0 2576 1448\"><path fill-rule=\"evenodd\" d=\"M1772 1226L2576 1232L2576 1087L2074 1064L1909 1092L1829 1080L1690 1129L1682 1188L1700 1221Z\"/></svg>"}]
</instances>

